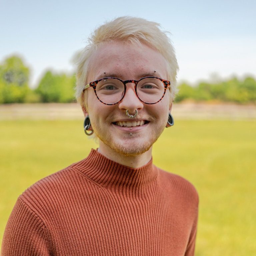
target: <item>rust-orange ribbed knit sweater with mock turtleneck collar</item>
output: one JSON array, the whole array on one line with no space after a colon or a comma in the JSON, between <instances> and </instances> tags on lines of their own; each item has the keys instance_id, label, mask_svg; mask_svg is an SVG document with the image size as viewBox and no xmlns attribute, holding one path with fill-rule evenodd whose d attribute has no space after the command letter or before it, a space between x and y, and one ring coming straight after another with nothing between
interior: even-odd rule
<instances>
[{"instance_id":1,"label":"rust-orange ribbed knit sweater with mock turtleneck collar","mask_svg":"<svg viewBox=\"0 0 256 256\"><path fill-rule=\"evenodd\" d=\"M198 195L151 161L137 169L93 150L17 200L2 256L194 255Z\"/></svg>"}]
</instances>

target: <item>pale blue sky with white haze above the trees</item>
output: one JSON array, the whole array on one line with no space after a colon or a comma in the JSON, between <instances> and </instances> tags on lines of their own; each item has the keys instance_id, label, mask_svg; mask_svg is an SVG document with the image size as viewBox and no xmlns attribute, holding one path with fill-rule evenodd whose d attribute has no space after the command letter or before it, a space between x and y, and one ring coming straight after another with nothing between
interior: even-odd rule
<instances>
[{"instance_id":1,"label":"pale blue sky with white haze above the trees","mask_svg":"<svg viewBox=\"0 0 256 256\"><path fill-rule=\"evenodd\" d=\"M0 62L21 56L35 87L46 70L74 72L72 57L90 33L127 15L171 32L178 82L255 78L255 10L255 0L0 0Z\"/></svg>"}]
</instances>

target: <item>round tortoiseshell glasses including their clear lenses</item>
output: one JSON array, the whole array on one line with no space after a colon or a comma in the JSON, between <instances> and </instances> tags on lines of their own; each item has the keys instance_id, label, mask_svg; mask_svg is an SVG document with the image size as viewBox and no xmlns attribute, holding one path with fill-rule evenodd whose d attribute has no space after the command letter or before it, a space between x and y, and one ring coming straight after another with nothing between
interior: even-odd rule
<instances>
[{"instance_id":1,"label":"round tortoiseshell glasses including their clear lenses","mask_svg":"<svg viewBox=\"0 0 256 256\"><path fill-rule=\"evenodd\" d=\"M116 77L104 77L85 85L83 92L85 89L92 87L100 102L106 105L115 105L124 98L127 83L135 84L137 97L146 104L159 102L171 84L170 81L153 76L143 77L137 81L123 81Z\"/></svg>"}]
</instances>

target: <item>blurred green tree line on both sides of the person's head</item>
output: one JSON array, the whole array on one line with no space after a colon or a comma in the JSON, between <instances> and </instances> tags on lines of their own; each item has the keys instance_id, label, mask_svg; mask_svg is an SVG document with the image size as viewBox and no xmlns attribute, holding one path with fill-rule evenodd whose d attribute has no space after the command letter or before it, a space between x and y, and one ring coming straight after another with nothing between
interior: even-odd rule
<instances>
[{"instance_id":1,"label":"blurred green tree line on both sides of the person's head","mask_svg":"<svg viewBox=\"0 0 256 256\"><path fill-rule=\"evenodd\" d=\"M75 102L75 74L56 74L46 71L36 89L29 88L29 68L18 56L11 56L0 63L0 104L36 102ZM240 104L256 104L256 80L233 77L226 81L199 82L179 85L176 102L220 101Z\"/></svg>"}]
</instances>

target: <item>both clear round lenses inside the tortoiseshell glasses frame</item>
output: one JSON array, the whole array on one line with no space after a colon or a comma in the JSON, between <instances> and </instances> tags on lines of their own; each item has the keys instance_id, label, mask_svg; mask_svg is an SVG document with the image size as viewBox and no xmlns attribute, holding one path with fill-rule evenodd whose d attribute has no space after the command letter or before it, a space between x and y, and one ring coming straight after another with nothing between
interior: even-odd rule
<instances>
[{"instance_id":1,"label":"both clear round lenses inside the tortoiseshell glasses frame","mask_svg":"<svg viewBox=\"0 0 256 256\"><path fill-rule=\"evenodd\" d=\"M136 90L141 101L156 103L164 94L164 85L157 78L144 78L138 82ZM96 94L106 104L117 103L124 95L124 84L118 79L103 79L96 86Z\"/></svg>"}]
</instances>

